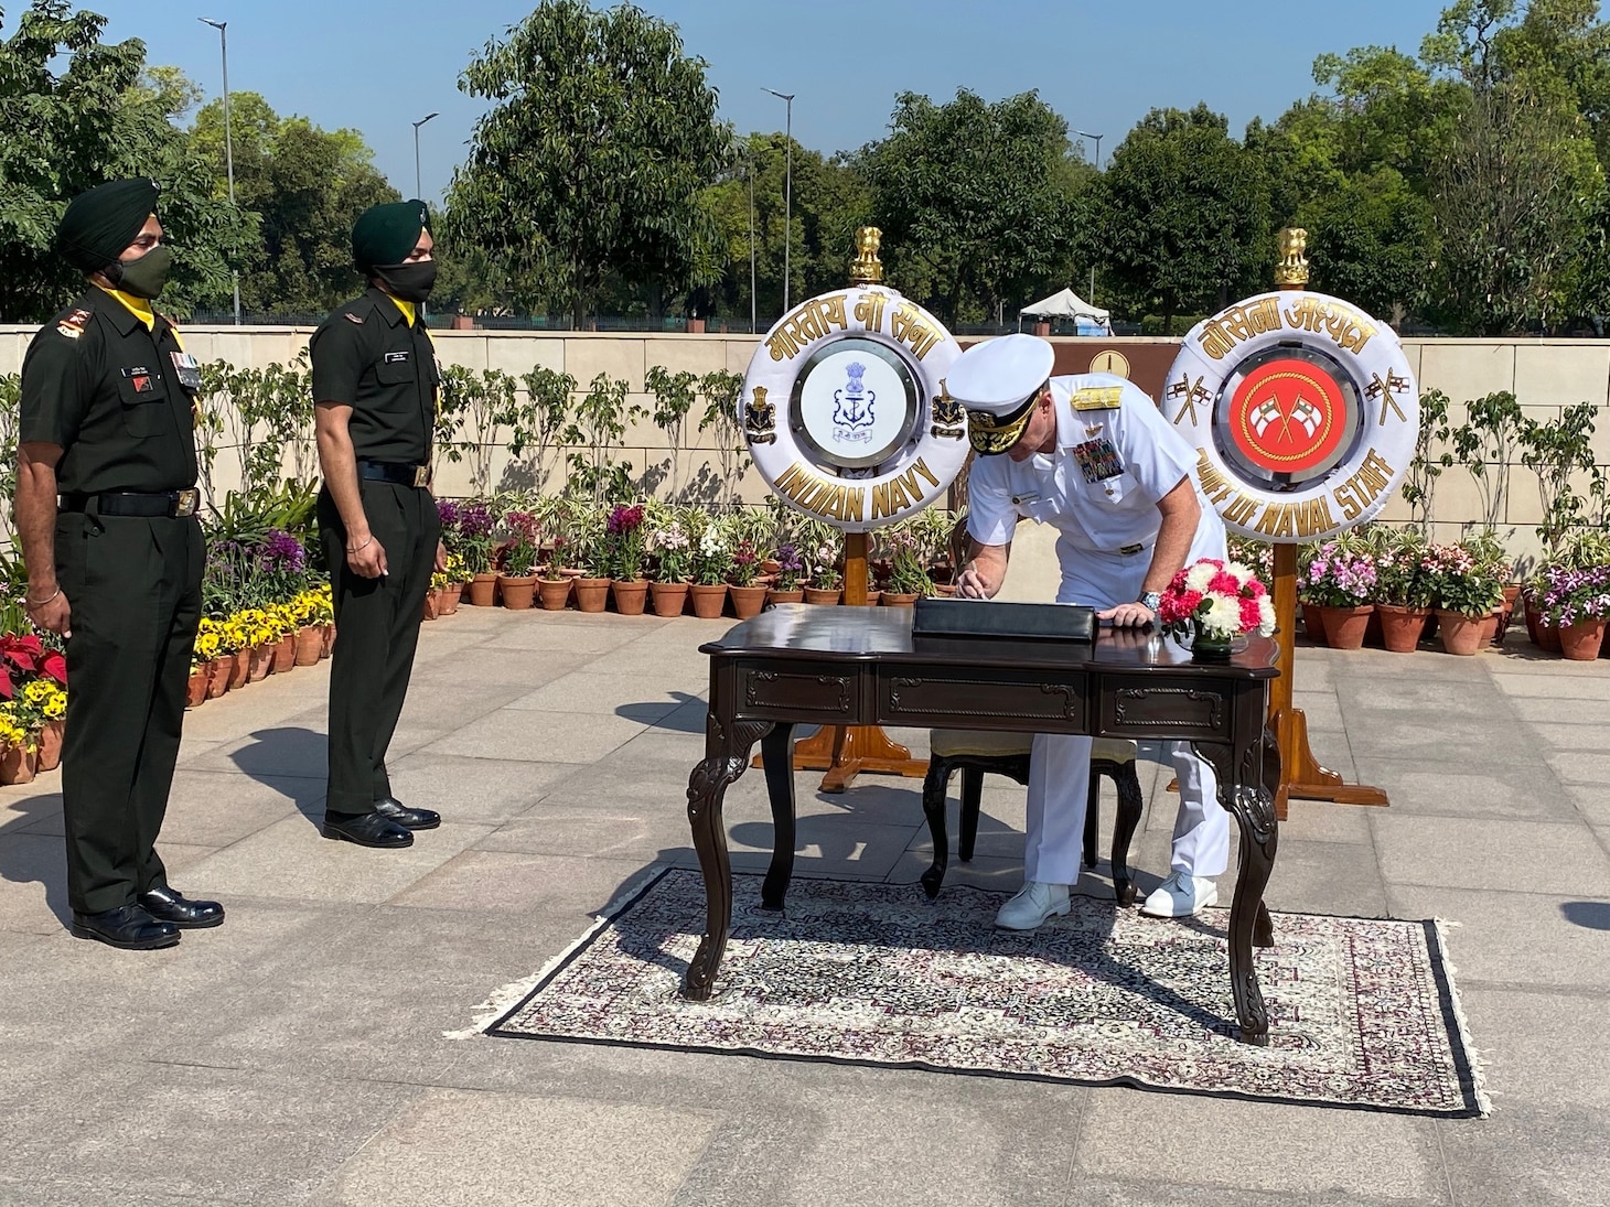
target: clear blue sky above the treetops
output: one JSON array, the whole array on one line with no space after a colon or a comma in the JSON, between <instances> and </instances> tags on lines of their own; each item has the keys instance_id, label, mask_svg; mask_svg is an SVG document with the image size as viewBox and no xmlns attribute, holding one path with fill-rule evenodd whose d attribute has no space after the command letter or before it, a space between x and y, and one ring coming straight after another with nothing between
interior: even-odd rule
<instances>
[{"instance_id":1,"label":"clear blue sky above the treetops","mask_svg":"<svg viewBox=\"0 0 1610 1207\"><path fill-rule=\"evenodd\" d=\"M108 39L140 37L151 63L179 66L222 90L217 31L229 23L229 80L261 92L282 114L325 129L356 127L404 196L414 192L412 122L420 129L427 198L464 158L481 101L457 90L459 72L488 39L525 16L531 0L89 0ZM1314 92L1322 51L1396 45L1417 53L1441 11L1426 0L1145 0L1038 5L974 0L646 0L675 23L687 53L710 64L721 117L741 134L781 130L795 93L794 135L805 146L853 150L886 134L894 97L948 100L968 87L987 100L1029 89L1079 130L1104 135L1103 161L1158 106L1208 101L1240 135ZM8 14L23 0L6 5ZM5 34L10 34L8 27ZM1093 151L1093 146L1087 148Z\"/></svg>"}]
</instances>

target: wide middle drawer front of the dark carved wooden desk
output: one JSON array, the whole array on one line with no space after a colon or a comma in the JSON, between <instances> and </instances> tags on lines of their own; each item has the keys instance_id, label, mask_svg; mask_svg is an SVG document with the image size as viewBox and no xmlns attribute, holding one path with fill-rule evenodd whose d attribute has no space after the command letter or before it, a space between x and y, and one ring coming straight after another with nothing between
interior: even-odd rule
<instances>
[{"instance_id":1,"label":"wide middle drawer front of the dark carved wooden desk","mask_svg":"<svg viewBox=\"0 0 1610 1207\"><path fill-rule=\"evenodd\" d=\"M890 724L937 729L1080 732L1085 674L985 671L968 666L879 666L877 715Z\"/></svg>"}]
</instances>

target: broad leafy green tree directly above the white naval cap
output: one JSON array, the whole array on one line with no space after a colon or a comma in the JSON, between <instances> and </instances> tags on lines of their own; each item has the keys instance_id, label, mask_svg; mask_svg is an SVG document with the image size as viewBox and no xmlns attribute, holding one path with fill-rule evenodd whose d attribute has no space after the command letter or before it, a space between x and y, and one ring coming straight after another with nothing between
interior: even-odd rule
<instances>
[{"instance_id":1,"label":"broad leafy green tree directly above the white naval cap","mask_svg":"<svg viewBox=\"0 0 1610 1207\"><path fill-rule=\"evenodd\" d=\"M892 132L857 156L890 278L945 322L1000 319L1069 280L1074 196L1088 174L1067 122L1034 92L935 105L903 92ZM842 275L842 274L840 274Z\"/></svg>"}]
</instances>

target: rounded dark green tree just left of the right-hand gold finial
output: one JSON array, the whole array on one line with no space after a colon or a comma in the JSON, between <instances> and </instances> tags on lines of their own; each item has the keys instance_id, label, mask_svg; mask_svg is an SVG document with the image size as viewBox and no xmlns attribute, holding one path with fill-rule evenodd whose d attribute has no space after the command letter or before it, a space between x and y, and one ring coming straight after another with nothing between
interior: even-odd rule
<instances>
[{"instance_id":1,"label":"rounded dark green tree just left of the right-hand gold finial","mask_svg":"<svg viewBox=\"0 0 1610 1207\"><path fill-rule=\"evenodd\" d=\"M1274 254L1269 182L1222 116L1153 109L1113 151L1096 192L1103 280L1132 309L1208 311L1261 288Z\"/></svg>"}]
</instances>

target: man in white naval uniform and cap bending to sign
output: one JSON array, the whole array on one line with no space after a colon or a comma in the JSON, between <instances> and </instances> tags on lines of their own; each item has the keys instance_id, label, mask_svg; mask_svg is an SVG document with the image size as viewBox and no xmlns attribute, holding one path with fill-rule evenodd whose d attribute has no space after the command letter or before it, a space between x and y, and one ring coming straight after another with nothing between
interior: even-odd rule
<instances>
[{"instance_id":1,"label":"man in white naval uniform and cap bending to sign","mask_svg":"<svg viewBox=\"0 0 1610 1207\"><path fill-rule=\"evenodd\" d=\"M1053 360L1045 340L1006 335L969 348L947 377L979 452L968 478L972 547L956 594L1000 591L1013 526L1026 517L1061 533L1058 604L1093 607L1116 626L1150 624L1182 566L1227 555L1224 525L1199 492L1190 444L1145 391L1111 373L1051 377ZM1230 816L1190 744L1172 742L1169 753L1180 782L1172 871L1141 912L1187 917L1219 900L1212 877L1230 859ZM1088 784L1088 737L1035 735L1024 887L995 925L1034 930L1067 912Z\"/></svg>"}]
</instances>

